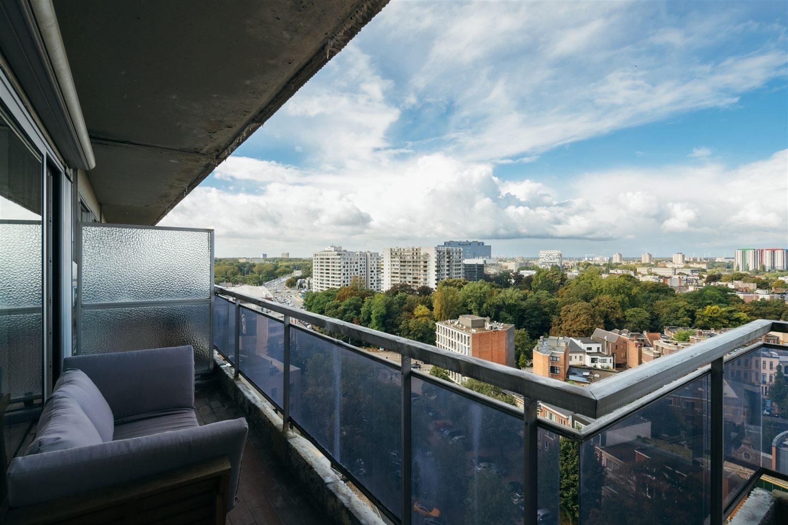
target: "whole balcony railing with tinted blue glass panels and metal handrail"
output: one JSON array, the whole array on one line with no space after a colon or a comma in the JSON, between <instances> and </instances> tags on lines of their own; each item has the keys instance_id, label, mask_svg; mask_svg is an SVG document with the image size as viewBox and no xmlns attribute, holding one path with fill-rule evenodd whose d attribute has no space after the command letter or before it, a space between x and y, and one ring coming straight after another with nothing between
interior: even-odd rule
<instances>
[{"instance_id":1,"label":"whole balcony railing with tinted blue glass panels and metal handrail","mask_svg":"<svg viewBox=\"0 0 788 525\"><path fill-rule=\"evenodd\" d=\"M583 524L723 523L773 467L764 385L755 372L742 379L741 363L788 358L786 346L750 344L788 331L786 322L756 320L581 387L215 292L214 347L236 376L396 523L557 525L559 437L577 449ZM398 353L401 363L303 324ZM524 409L414 370L414 360L521 394ZM539 404L577 427L537 416Z\"/></svg>"}]
</instances>

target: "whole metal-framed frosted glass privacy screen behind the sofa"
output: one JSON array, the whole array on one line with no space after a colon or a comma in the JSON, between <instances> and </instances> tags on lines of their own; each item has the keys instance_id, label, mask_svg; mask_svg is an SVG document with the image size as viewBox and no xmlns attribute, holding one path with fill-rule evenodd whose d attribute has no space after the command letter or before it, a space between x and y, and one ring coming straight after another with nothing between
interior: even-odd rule
<instances>
[{"instance_id":1,"label":"whole metal-framed frosted glass privacy screen behind the sofa","mask_svg":"<svg viewBox=\"0 0 788 525\"><path fill-rule=\"evenodd\" d=\"M214 231L80 223L77 354L191 345L213 368Z\"/></svg>"}]
</instances>

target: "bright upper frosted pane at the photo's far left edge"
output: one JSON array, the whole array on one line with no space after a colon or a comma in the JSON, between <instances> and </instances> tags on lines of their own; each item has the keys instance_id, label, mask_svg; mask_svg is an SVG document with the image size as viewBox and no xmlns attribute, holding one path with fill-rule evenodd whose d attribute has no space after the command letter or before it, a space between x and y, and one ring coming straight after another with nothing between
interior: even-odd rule
<instances>
[{"instance_id":1,"label":"bright upper frosted pane at the photo's far left edge","mask_svg":"<svg viewBox=\"0 0 788 525\"><path fill-rule=\"evenodd\" d=\"M41 221L0 220L0 309L41 307Z\"/></svg>"}]
</instances>

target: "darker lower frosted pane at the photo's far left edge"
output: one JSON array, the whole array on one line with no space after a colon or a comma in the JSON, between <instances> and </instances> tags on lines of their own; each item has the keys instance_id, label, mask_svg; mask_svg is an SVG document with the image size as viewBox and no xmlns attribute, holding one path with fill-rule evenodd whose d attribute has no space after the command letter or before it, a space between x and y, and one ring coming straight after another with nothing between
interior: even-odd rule
<instances>
[{"instance_id":1,"label":"darker lower frosted pane at the photo's far left edge","mask_svg":"<svg viewBox=\"0 0 788 525\"><path fill-rule=\"evenodd\" d=\"M0 315L0 392L41 394L41 313Z\"/></svg>"}]
</instances>

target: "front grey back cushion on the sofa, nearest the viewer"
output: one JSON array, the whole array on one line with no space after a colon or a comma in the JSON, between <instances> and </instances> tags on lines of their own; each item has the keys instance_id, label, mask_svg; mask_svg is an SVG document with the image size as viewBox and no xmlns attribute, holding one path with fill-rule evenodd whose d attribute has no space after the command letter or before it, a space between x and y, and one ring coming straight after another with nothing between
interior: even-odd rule
<instances>
[{"instance_id":1,"label":"front grey back cushion on the sofa, nearest the viewer","mask_svg":"<svg viewBox=\"0 0 788 525\"><path fill-rule=\"evenodd\" d=\"M99 431L71 397L55 393L41 412L35 439L25 455L99 445Z\"/></svg>"}]
</instances>

